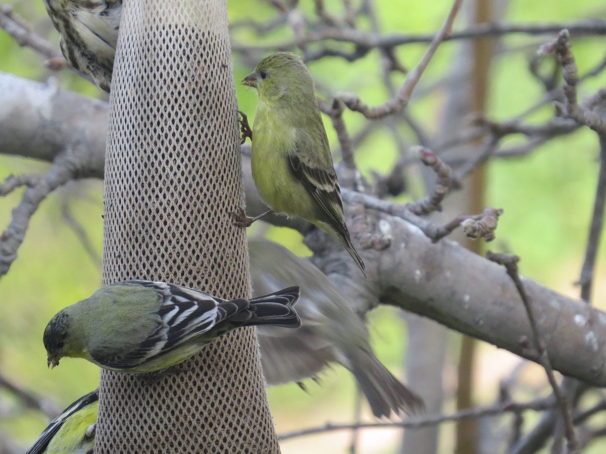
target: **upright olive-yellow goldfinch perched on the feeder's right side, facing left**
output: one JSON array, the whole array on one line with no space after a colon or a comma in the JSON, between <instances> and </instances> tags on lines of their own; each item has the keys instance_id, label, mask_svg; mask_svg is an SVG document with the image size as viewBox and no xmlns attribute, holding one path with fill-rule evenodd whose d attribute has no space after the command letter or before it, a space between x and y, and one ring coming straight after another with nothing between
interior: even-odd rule
<instances>
[{"instance_id":1,"label":"upright olive-yellow goldfinch perched on the feeder's right side, facing left","mask_svg":"<svg viewBox=\"0 0 606 454\"><path fill-rule=\"evenodd\" d=\"M248 226L270 212L300 216L338 238L364 272L345 225L341 188L307 67L295 54L278 52L262 59L242 84L259 94L251 166L259 196L271 211L256 218L236 215L236 223Z\"/></svg>"}]
</instances>

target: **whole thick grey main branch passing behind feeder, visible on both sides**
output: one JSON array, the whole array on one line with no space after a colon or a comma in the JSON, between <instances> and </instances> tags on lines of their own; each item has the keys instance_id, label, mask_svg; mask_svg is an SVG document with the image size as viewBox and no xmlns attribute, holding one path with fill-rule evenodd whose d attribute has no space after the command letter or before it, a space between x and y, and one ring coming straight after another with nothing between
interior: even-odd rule
<instances>
[{"instance_id":1,"label":"whole thick grey main branch passing behind feeder, visible on both sides","mask_svg":"<svg viewBox=\"0 0 606 454\"><path fill-rule=\"evenodd\" d=\"M11 103L18 105L15 116L22 119L15 121L15 116L8 115L0 122L0 153L50 162L65 143L84 141L87 146L80 148L84 154L79 155L82 163L78 176L102 177L107 104L60 90L53 91L54 96L37 98L32 93L44 94L48 91L47 85L6 74L0 74L0 87L5 100L0 108L7 108ZM58 105L63 111L61 127L50 128L46 116ZM84 112L91 114L83 115ZM41 128L36 130L32 124ZM26 140L27 134L32 140ZM247 165L250 160L244 153L248 206L260 206ZM347 194L344 191L345 209L350 213L352 205ZM382 249L360 251L370 264L367 282L353 282L348 277L349 266L355 264L333 240L318 229L312 229L313 235L307 235L312 250L323 251L314 258L316 265L328 272L340 288L369 286L368 291L384 303L433 318L451 329L528 357L519 344L522 335L530 335L527 316L514 286L498 265L452 242L434 245L418 227L398 217L375 209L366 212L371 225L390 238ZM284 217L275 219L287 222ZM422 218L418 220L425 222ZM299 231L310 231L310 226L300 220L288 220L288 223ZM357 274L352 271L351 275ZM541 332L548 333L545 343L554 369L606 386L606 314L531 280L524 283L534 301Z\"/></svg>"}]
</instances>

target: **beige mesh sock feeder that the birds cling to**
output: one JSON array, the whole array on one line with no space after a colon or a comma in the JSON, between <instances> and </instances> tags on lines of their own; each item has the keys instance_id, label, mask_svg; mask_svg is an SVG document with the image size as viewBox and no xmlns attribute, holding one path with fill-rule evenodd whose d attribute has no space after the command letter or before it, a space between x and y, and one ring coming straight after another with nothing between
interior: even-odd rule
<instances>
[{"instance_id":1,"label":"beige mesh sock feeder that the birds cling to","mask_svg":"<svg viewBox=\"0 0 606 454\"><path fill-rule=\"evenodd\" d=\"M124 2L105 167L104 285L250 293L224 1ZM253 329L149 384L101 373L97 453L279 452Z\"/></svg>"}]
</instances>

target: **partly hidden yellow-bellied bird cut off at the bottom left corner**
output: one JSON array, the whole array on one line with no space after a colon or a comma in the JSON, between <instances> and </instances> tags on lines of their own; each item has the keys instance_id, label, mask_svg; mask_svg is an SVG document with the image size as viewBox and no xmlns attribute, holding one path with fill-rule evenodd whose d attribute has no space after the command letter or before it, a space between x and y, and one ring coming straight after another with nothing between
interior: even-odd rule
<instances>
[{"instance_id":1,"label":"partly hidden yellow-bellied bird cut off at the bottom left corner","mask_svg":"<svg viewBox=\"0 0 606 454\"><path fill-rule=\"evenodd\" d=\"M98 411L95 389L53 419L25 454L92 454Z\"/></svg>"}]
</instances>

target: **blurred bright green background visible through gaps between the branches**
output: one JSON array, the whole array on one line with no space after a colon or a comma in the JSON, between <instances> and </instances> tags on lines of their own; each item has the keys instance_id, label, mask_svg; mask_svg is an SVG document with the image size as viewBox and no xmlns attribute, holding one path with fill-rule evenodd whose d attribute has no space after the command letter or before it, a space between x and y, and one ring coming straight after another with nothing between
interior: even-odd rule
<instances>
[{"instance_id":1,"label":"blurred bright green background visible through gaps between the branches","mask_svg":"<svg viewBox=\"0 0 606 454\"><path fill-rule=\"evenodd\" d=\"M10 3L10 2L9 2ZM327 1L329 10L338 13L341 2ZM355 2L354 2L355 3ZM48 19L41 0L13 2L15 12L32 23L33 30L53 43L58 34ZM447 14L451 1L433 2L380 0L377 2L379 24L385 33L431 33L437 30ZM302 10L313 12L311 2L301 2ZM253 18L263 20L275 15L275 8L265 2L229 0L230 22ZM397 12L397 13L395 13ZM606 7L598 0L568 2L564 0L514 0L505 15L506 21L515 22L567 22L585 18L604 18ZM455 29L462 28L459 18ZM255 39L253 42L275 43L278 39L291 39L290 30L255 38L250 30L238 30L236 39ZM504 45L518 51L502 53L494 61L490 74L488 117L494 120L510 119L541 99L542 87L528 75L527 55L551 37L509 36ZM421 79L419 90L439 80L449 70L456 52L456 42L442 44ZM600 38L585 38L573 42L579 71L583 74L604 58L606 43ZM408 68L414 67L425 49L424 44L400 47L398 55ZM522 50L519 50L519 49ZM338 58L327 58L309 65L311 73L324 93L354 91L368 104L383 102L387 96L381 85L381 67L376 52L349 64ZM33 50L20 48L12 38L0 31L0 71L37 81L56 77L60 87L78 91L87 96L103 97L98 88L76 74L64 70L51 73ZM236 82L251 71L235 56ZM361 76L363 74L363 77ZM397 79L397 78L396 78ZM404 80L404 76L398 79ZM584 83L579 97L590 96L604 87L606 76L594 77ZM236 85L240 108L247 113L255 111L256 94L253 90ZM379 88L378 88L379 87ZM433 90L428 96L411 102L410 111L433 134L437 130L447 90ZM530 120L541 122L552 114L547 106ZM350 131L364 127L367 120L359 114L345 113ZM331 143L335 133L326 122ZM413 142L410 131L403 129L405 137ZM510 140L515 143L516 137ZM336 148L336 146L335 146ZM356 152L359 167L367 175L375 170L388 171L396 159L396 147L385 134L372 134ZM598 171L598 140L588 130L579 130L570 136L556 139L541 146L528 157L497 160L488 166L487 205L505 209L497 231L496 243L491 249L510 251L522 256L521 269L527 277L538 280L557 291L578 297L573 285L578 279L584 256L588 221L591 216L593 192ZM0 180L10 174L42 173L46 163L16 157L0 156ZM0 199L0 229L10 220L11 210L20 200L21 191ZM42 332L55 312L90 295L101 282L101 271L95 257L89 254L78 239L62 212L68 209L87 232L96 255L101 255L102 239L102 182L86 180L70 183L55 191L45 200L32 219L19 258L10 272L0 280L0 373L38 395L46 395L65 407L79 396L94 389L99 370L85 361L67 360L64 367L48 370ZM255 230L256 229L256 230ZM288 229L256 226L249 235L262 230L267 237L281 242L298 254L307 254L299 234ZM602 248L604 249L604 248ZM606 289L604 251L596 272L594 303L604 309L602 295ZM399 377L404 377L405 323L393 308L379 308L370 314L373 345L382 361ZM458 342L450 352L450 366L444 371L448 396L455 389L456 355ZM479 404L491 404L498 393L499 379L506 377L516 364L515 358L499 352L493 346L482 345L476 376L475 395ZM69 364L68 364L69 363ZM499 367L496 367L498 364ZM530 368L530 379L541 386L541 370ZM307 383L308 393L296 384L270 389L269 396L278 433L332 421L350 421L354 411L355 382L341 367L328 369L322 374L322 383ZM44 416L22 410L19 401L0 391L3 414L0 414L0 436L10 434L22 446L28 446L47 424ZM363 403L364 416L371 413ZM451 404L445 410L452 409ZM509 421L510 416L506 416ZM532 419L532 418L531 418ZM528 427L528 426L525 426ZM452 424L444 424L441 452L451 452ZM345 452L350 440L346 432L293 439L282 443L284 453L307 453L311 449L320 453ZM396 430L367 430L361 438L360 451L368 453L395 452L399 443ZM587 452L604 452L606 444L594 444Z\"/></svg>"}]
</instances>

